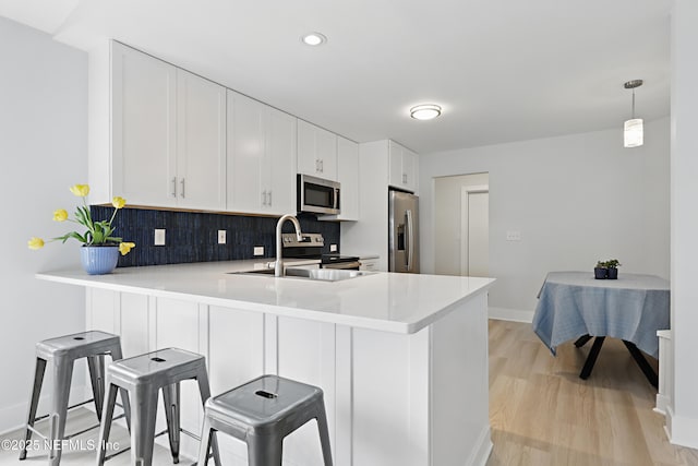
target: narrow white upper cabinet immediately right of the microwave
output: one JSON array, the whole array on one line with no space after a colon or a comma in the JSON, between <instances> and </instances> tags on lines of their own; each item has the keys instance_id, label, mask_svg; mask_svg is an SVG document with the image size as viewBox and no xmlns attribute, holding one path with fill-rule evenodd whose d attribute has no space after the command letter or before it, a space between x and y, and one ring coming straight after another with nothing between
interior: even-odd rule
<instances>
[{"instance_id":1,"label":"narrow white upper cabinet immediately right of the microwave","mask_svg":"<svg viewBox=\"0 0 698 466\"><path fill-rule=\"evenodd\" d=\"M359 219L359 144L337 136L337 174L341 184L339 215L324 215L323 220Z\"/></svg>"}]
</instances>

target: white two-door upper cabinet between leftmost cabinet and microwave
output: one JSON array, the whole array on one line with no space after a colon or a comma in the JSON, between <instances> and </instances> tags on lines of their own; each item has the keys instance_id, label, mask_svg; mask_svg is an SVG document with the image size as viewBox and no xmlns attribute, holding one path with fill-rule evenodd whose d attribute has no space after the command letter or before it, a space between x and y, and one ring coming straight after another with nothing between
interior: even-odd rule
<instances>
[{"instance_id":1,"label":"white two-door upper cabinet between leftmost cabinet and microwave","mask_svg":"<svg viewBox=\"0 0 698 466\"><path fill-rule=\"evenodd\" d=\"M228 210L296 212L296 118L228 91Z\"/></svg>"}]
</instances>

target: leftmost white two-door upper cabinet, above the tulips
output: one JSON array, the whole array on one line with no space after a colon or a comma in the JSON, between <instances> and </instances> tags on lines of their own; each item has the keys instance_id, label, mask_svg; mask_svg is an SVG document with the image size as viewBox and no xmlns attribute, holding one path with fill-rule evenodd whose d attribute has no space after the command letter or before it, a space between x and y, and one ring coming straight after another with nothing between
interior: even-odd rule
<instances>
[{"instance_id":1,"label":"leftmost white two-door upper cabinet, above the tulips","mask_svg":"<svg viewBox=\"0 0 698 466\"><path fill-rule=\"evenodd\" d=\"M112 194L225 208L225 88L118 43L111 57Z\"/></svg>"}]
</instances>

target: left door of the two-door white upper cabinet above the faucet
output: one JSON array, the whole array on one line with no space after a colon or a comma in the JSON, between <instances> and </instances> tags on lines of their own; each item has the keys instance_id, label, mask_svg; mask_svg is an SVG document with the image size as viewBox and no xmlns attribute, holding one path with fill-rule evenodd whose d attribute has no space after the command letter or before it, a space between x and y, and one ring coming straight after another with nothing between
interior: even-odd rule
<instances>
[{"instance_id":1,"label":"left door of the two-door white upper cabinet above the faucet","mask_svg":"<svg viewBox=\"0 0 698 466\"><path fill-rule=\"evenodd\" d=\"M265 106L228 91L228 210L261 212L268 194L262 189Z\"/></svg>"}]
</instances>

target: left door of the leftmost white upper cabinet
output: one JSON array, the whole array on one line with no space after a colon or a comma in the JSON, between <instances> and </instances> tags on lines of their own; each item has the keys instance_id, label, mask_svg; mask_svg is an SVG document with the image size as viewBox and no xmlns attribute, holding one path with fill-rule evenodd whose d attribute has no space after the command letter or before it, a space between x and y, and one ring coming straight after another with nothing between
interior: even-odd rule
<instances>
[{"instance_id":1,"label":"left door of the leftmost white upper cabinet","mask_svg":"<svg viewBox=\"0 0 698 466\"><path fill-rule=\"evenodd\" d=\"M173 206L177 69L112 43L111 92L112 195Z\"/></svg>"}]
</instances>

